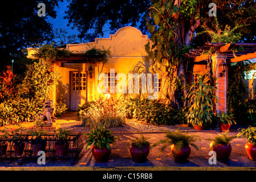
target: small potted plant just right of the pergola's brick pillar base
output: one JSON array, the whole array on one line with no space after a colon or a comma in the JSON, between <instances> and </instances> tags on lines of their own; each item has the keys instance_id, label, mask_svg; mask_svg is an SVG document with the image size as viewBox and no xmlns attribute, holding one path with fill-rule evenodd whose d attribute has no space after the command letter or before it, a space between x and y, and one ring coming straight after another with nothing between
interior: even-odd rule
<instances>
[{"instance_id":1,"label":"small potted plant just right of the pergola's brick pillar base","mask_svg":"<svg viewBox=\"0 0 256 182\"><path fill-rule=\"evenodd\" d=\"M232 123L235 123L234 121L234 114L227 114L227 113L217 113L217 118L220 119L220 130L225 132L226 130L229 130ZM235 123L236 124L236 123Z\"/></svg>"}]
</instances>

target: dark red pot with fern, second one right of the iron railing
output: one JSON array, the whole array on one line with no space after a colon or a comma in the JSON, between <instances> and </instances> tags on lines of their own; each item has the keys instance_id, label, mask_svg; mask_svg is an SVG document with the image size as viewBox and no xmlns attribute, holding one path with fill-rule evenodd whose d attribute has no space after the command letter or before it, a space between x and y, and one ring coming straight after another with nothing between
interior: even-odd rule
<instances>
[{"instance_id":1,"label":"dark red pot with fern, second one right of the iron railing","mask_svg":"<svg viewBox=\"0 0 256 182\"><path fill-rule=\"evenodd\" d=\"M144 163L147 161L149 149L151 148L151 143L149 143L148 138L140 134L140 137L128 140L127 147L128 146L131 146L130 153L134 162Z\"/></svg>"}]
</instances>

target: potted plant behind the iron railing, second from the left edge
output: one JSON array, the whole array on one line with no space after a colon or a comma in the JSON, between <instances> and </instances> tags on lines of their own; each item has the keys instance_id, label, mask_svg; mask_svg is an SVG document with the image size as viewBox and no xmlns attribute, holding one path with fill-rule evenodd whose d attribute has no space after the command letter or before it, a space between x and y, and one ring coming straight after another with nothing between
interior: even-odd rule
<instances>
[{"instance_id":1,"label":"potted plant behind the iron railing, second from the left edge","mask_svg":"<svg viewBox=\"0 0 256 182\"><path fill-rule=\"evenodd\" d=\"M21 125L18 129L11 131L11 134L14 134L11 139L13 140L13 145L11 147L15 150L15 155L22 155L25 149L25 143L23 142L24 138L22 136L23 127Z\"/></svg>"}]
</instances>

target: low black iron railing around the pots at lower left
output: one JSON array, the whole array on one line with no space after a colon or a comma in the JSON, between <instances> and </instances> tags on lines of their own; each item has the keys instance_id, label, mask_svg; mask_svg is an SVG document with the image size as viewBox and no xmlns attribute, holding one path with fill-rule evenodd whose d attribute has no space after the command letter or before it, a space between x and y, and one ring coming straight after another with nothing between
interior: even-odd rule
<instances>
[{"instance_id":1,"label":"low black iron railing around the pots at lower left","mask_svg":"<svg viewBox=\"0 0 256 182\"><path fill-rule=\"evenodd\" d=\"M41 156L38 155L38 151L44 151L46 159L71 159L73 165L83 150L81 134L68 135L62 142L54 134L42 135L40 140L36 140L30 134L22 135L18 140L13 138L14 135L10 135L10 139L0 139L0 158L18 159L18 164L21 164L21 159L38 159Z\"/></svg>"}]
</instances>

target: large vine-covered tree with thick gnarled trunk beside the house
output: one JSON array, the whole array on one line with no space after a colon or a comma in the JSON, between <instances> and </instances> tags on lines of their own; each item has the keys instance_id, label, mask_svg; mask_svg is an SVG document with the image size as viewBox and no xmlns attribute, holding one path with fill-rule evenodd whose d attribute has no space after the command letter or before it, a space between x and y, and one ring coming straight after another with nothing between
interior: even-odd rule
<instances>
[{"instance_id":1,"label":"large vine-covered tree with thick gnarled trunk beside the house","mask_svg":"<svg viewBox=\"0 0 256 182\"><path fill-rule=\"evenodd\" d=\"M214 17L208 15L209 4L216 3L217 17L220 26L228 24L231 27L243 23L255 25L255 1L196 1L196 0L152 0L149 7L148 29L152 34L151 41L145 46L153 63L164 65L162 71L162 86L159 100L178 109L185 105L178 100L183 85L183 94L187 83L186 65L189 60L182 56L190 49L193 35L204 25L209 30L215 29ZM254 17L254 18L251 18ZM243 27L241 33L250 32L251 27ZM246 37L246 36L245 36ZM255 38L255 33L251 34ZM197 45L202 46L204 42ZM164 80L164 81L163 81Z\"/></svg>"}]
</instances>

